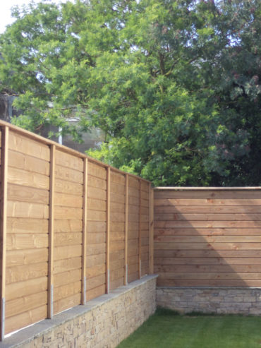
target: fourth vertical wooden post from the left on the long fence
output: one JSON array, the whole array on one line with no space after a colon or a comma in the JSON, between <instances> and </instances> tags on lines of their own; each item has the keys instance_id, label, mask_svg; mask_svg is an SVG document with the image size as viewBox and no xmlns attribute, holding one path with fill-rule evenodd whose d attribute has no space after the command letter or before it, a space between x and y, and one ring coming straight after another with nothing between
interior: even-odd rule
<instances>
[{"instance_id":1,"label":"fourth vertical wooden post from the left on the long fence","mask_svg":"<svg viewBox=\"0 0 261 348\"><path fill-rule=\"evenodd\" d=\"M106 293L109 294L109 234L111 229L111 168L107 167L106 194Z\"/></svg>"}]
</instances>

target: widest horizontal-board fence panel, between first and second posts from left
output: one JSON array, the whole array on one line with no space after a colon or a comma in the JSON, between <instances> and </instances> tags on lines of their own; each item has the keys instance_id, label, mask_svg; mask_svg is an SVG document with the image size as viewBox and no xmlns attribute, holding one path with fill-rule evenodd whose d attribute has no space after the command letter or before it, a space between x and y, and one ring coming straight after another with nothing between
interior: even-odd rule
<instances>
[{"instance_id":1,"label":"widest horizontal-board fence panel, between first and second posts from left","mask_svg":"<svg viewBox=\"0 0 261 348\"><path fill-rule=\"evenodd\" d=\"M6 331L47 316L48 145L9 132Z\"/></svg>"}]
</instances>

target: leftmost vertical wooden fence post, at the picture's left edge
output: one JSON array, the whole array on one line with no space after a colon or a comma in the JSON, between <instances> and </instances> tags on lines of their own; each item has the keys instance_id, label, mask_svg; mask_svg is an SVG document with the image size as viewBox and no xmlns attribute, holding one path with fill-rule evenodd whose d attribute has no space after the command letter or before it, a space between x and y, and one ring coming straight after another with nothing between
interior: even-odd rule
<instances>
[{"instance_id":1,"label":"leftmost vertical wooden fence post, at the picture's left edge","mask_svg":"<svg viewBox=\"0 0 261 348\"><path fill-rule=\"evenodd\" d=\"M8 175L8 136L9 128L1 128L1 331L4 340L6 312L6 219L7 219L7 175Z\"/></svg>"}]
</instances>

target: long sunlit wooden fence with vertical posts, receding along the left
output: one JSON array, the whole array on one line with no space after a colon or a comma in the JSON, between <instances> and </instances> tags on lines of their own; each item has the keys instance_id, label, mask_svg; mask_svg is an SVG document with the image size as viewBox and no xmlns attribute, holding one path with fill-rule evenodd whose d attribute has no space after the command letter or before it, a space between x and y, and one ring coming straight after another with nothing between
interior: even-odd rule
<instances>
[{"instance_id":1,"label":"long sunlit wooden fence with vertical posts, receding along the left","mask_svg":"<svg viewBox=\"0 0 261 348\"><path fill-rule=\"evenodd\" d=\"M153 272L150 182L0 121L1 339Z\"/></svg>"}]
</instances>

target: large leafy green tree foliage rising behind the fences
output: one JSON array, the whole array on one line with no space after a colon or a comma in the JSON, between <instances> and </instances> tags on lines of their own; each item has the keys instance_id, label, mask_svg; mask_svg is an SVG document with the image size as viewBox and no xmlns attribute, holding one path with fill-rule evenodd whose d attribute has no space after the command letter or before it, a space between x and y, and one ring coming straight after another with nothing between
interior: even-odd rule
<instances>
[{"instance_id":1,"label":"large leafy green tree foliage rising behind the fences","mask_svg":"<svg viewBox=\"0 0 261 348\"><path fill-rule=\"evenodd\" d=\"M155 185L260 185L260 1L90 0L14 8L1 86L20 126L91 126L90 155ZM80 121L68 126L72 114Z\"/></svg>"}]
</instances>

